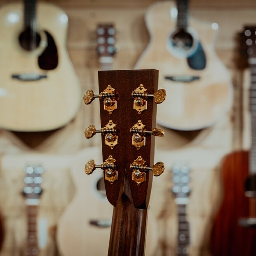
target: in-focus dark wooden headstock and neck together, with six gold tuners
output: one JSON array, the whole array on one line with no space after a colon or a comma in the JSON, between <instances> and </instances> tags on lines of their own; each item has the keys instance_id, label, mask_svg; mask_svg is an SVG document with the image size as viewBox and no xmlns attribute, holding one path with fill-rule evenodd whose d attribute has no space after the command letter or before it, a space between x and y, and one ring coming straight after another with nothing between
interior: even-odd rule
<instances>
[{"instance_id":1,"label":"in-focus dark wooden headstock and neck together, with six gold tuners","mask_svg":"<svg viewBox=\"0 0 256 256\"><path fill-rule=\"evenodd\" d=\"M90 125L85 136L101 133L103 163L91 159L85 172L103 170L106 196L114 206L108 255L144 255L152 175L164 171L162 162L153 165L152 135L164 135L153 128L154 102L163 102L166 94L157 91L157 70L99 71L98 76L99 95L88 90L84 102L100 98L102 128Z\"/></svg>"}]
</instances>

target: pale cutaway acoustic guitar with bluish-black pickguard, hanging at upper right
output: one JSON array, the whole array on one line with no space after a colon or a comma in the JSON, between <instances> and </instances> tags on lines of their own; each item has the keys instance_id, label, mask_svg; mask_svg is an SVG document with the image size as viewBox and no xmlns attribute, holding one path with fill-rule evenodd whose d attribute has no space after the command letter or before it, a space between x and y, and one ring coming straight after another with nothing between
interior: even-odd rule
<instances>
[{"instance_id":1,"label":"pale cutaway acoustic guitar with bluish-black pickguard, hanging at upper right","mask_svg":"<svg viewBox=\"0 0 256 256\"><path fill-rule=\"evenodd\" d=\"M157 123L175 130L213 125L232 102L227 68L214 52L218 24L189 19L188 0L159 1L145 14L150 41L136 69L159 69L168 95ZM168 107L166 107L168 106Z\"/></svg>"}]
</instances>

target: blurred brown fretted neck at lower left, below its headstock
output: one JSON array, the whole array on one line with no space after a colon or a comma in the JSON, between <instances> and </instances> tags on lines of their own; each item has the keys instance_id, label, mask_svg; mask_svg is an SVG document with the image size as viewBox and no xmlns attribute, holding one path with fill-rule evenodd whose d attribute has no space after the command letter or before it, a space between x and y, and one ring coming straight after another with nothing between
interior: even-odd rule
<instances>
[{"instance_id":1,"label":"blurred brown fretted neck at lower left, below its headstock","mask_svg":"<svg viewBox=\"0 0 256 256\"><path fill-rule=\"evenodd\" d=\"M37 216L38 205L27 205L28 239L26 255L38 255L39 252L37 237Z\"/></svg>"}]
</instances>

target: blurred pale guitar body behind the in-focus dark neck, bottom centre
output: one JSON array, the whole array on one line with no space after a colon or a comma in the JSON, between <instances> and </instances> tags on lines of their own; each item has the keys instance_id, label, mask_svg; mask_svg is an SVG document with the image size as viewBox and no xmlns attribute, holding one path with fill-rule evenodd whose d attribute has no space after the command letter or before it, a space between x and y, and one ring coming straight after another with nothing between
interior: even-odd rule
<instances>
[{"instance_id":1,"label":"blurred pale guitar body behind the in-focus dark neck, bottom centre","mask_svg":"<svg viewBox=\"0 0 256 256\"><path fill-rule=\"evenodd\" d=\"M102 179L101 172L87 176L81 170L84 159L101 161L101 151L97 147L85 149L76 155L71 166L71 175L76 194L62 214L57 227L57 244L62 256L107 255L113 206L106 195L97 190ZM105 192L105 190L103 190ZM92 225L90 221L106 221L107 226ZM146 240L147 255L154 255L157 247L157 223L152 214L148 216Z\"/></svg>"}]
</instances>

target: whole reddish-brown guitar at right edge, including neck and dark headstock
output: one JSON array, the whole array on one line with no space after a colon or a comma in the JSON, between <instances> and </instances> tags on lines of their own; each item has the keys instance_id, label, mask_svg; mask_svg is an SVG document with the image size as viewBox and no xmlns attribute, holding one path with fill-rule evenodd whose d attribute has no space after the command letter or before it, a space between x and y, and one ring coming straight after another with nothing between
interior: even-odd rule
<instances>
[{"instance_id":1,"label":"whole reddish-brown guitar at right edge, including neck and dark headstock","mask_svg":"<svg viewBox=\"0 0 256 256\"><path fill-rule=\"evenodd\" d=\"M215 256L256 255L256 27L246 27L248 62L251 69L249 106L251 149L223 159L223 200L214 220L210 249Z\"/></svg>"}]
</instances>

